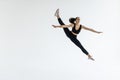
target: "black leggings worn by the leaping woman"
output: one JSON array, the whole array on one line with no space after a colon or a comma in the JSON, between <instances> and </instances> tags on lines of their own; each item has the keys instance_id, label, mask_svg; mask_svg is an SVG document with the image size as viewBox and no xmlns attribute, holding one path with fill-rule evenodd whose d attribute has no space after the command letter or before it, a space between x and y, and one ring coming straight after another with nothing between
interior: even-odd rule
<instances>
[{"instance_id":1,"label":"black leggings worn by the leaping woman","mask_svg":"<svg viewBox=\"0 0 120 80\"><path fill-rule=\"evenodd\" d=\"M61 20L61 18L58 18L58 22L60 25L65 25L63 23L63 21ZM81 45L80 41L77 39L77 36L74 35L68 28L63 28L66 36L76 45L78 46L83 53L85 53L86 55L88 55L89 53L85 50L85 48Z\"/></svg>"}]
</instances>

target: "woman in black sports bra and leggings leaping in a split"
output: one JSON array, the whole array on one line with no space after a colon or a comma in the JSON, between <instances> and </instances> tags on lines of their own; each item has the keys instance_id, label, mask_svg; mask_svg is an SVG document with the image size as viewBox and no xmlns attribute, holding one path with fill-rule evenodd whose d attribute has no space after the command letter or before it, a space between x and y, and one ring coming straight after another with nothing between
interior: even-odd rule
<instances>
[{"instance_id":1,"label":"woman in black sports bra and leggings leaping in a split","mask_svg":"<svg viewBox=\"0 0 120 80\"><path fill-rule=\"evenodd\" d=\"M65 25L63 23L63 21L61 20L60 16L59 16L59 9L56 10L55 12L55 16L57 17L58 19L58 22L60 24L60 26L56 26L56 25L52 25L54 28L63 28L66 36L76 45L78 46L83 53L85 53L87 56L88 56L88 59L91 59L91 60L94 60L92 58L92 56L87 52L87 50L82 46L82 44L80 43L80 41L77 39L77 35L80 33L81 29L85 29L85 30L89 30L89 31L92 31L92 32L95 32L95 33L102 33L102 32L99 32L99 31L95 31L93 29L90 29L90 28L87 28L83 25L80 24L80 18L79 17L76 17L76 18L70 18L69 19L69 22L70 24L69 25ZM72 30L70 31L68 29L68 27L72 27Z\"/></svg>"}]
</instances>

